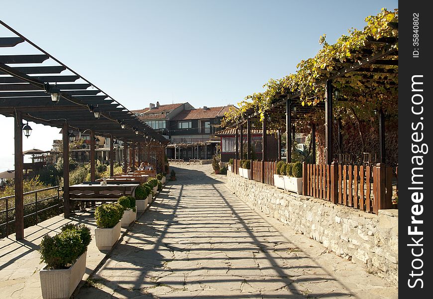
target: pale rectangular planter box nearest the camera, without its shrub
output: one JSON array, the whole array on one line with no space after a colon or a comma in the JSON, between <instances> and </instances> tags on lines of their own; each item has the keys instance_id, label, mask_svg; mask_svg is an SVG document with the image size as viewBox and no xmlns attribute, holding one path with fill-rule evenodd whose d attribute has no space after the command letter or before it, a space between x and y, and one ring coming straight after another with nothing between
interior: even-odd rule
<instances>
[{"instance_id":1,"label":"pale rectangular planter box nearest the camera, without its shrub","mask_svg":"<svg viewBox=\"0 0 433 299\"><path fill-rule=\"evenodd\" d=\"M39 271L43 299L68 299L86 273L86 255L83 253L68 269Z\"/></svg>"}]
</instances>

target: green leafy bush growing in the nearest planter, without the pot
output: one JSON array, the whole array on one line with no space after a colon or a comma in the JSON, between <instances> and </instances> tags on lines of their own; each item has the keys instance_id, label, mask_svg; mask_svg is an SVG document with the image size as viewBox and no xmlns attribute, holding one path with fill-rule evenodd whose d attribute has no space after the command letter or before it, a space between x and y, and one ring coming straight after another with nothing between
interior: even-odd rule
<instances>
[{"instance_id":1,"label":"green leafy bush growing in the nearest planter, without the pot","mask_svg":"<svg viewBox=\"0 0 433 299\"><path fill-rule=\"evenodd\" d=\"M42 238L39 253L41 263L46 263L47 269L67 269L86 252L92 240L90 228L84 224L67 224L61 230L54 237L45 235Z\"/></svg>"}]
</instances>

